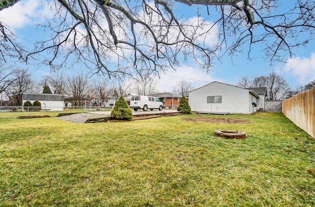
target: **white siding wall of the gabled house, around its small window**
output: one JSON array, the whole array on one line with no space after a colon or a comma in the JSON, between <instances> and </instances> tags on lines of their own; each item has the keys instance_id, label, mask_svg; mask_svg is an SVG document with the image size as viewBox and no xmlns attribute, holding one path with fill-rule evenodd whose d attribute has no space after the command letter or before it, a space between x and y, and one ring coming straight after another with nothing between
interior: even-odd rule
<instances>
[{"instance_id":1,"label":"white siding wall of the gabled house, around its small window","mask_svg":"<svg viewBox=\"0 0 315 207\"><path fill-rule=\"evenodd\" d=\"M207 103L207 96L222 96L221 103ZM249 113L249 90L213 82L189 93L191 111ZM251 101L252 105L252 101Z\"/></svg>"}]
</instances>

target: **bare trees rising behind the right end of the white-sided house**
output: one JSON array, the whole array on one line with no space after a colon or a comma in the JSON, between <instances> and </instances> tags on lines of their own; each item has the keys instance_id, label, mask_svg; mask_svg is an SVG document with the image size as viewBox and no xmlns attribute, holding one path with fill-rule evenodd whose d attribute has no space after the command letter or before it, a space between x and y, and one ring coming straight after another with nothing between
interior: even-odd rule
<instances>
[{"instance_id":1,"label":"bare trees rising behind the right end of the white-sided house","mask_svg":"<svg viewBox=\"0 0 315 207\"><path fill-rule=\"evenodd\" d=\"M257 76L253 80L248 77L242 77L237 83L244 88L267 87L267 100L282 100L287 97L292 90L286 80L275 72L265 76Z\"/></svg>"}]
</instances>

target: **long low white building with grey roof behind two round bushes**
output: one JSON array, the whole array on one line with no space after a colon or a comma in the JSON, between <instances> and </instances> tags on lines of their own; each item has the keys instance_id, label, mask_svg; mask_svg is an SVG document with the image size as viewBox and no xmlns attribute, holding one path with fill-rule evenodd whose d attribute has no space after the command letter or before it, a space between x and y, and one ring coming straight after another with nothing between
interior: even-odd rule
<instances>
[{"instance_id":1,"label":"long low white building with grey roof behind two round bushes","mask_svg":"<svg viewBox=\"0 0 315 207\"><path fill-rule=\"evenodd\" d=\"M26 101L30 101L31 103L39 101L41 110L63 111L64 95L51 93L23 93L22 106Z\"/></svg>"}]
</instances>

